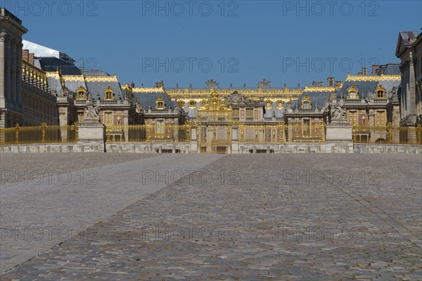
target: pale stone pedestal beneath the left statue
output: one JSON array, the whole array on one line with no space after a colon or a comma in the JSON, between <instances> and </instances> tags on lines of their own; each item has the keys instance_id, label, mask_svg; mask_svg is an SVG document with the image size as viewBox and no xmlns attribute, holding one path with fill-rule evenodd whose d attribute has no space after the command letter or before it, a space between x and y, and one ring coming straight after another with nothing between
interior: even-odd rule
<instances>
[{"instance_id":1,"label":"pale stone pedestal beneath the left statue","mask_svg":"<svg viewBox=\"0 0 422 281\"><path fill-rule=\"evenodd\" d=\"M84 119L78 125L77 143L82 145L83 152L105 152L106 126L98 119Z\"/></svg>"}]
</instances>

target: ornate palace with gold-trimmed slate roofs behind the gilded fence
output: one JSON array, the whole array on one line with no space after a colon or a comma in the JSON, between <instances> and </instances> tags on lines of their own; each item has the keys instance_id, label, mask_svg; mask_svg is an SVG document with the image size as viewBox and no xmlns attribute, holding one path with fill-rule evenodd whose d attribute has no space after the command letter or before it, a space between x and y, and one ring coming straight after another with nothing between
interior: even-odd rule
<instances>
[{"instance_id":1,"label":"ornate palace with gold-trimmed slate roofs behind the gilded fence","mask_svg":"<svg viewBox=\"0 0 422 281\"><path fill-rule=\"evenodd\" d=\"M422 37L417 32L399 34L396 55L402 63L373 65L371 73L363 68L357 75L347 75L345 81L328 77L326 84L314 81L312 86L272 88L264 79L253 88L220 88L210 79L200 89L167 88L162 81L148 88L121 84L116 74L103 70L82 70L63 52L23 41L27 30L5 8L1 8L0 22L0 55L5 62L0 75L1 127L80 124L91 100L100 110L100 122L108 128L196 124L199 142L211 135L216 141L217 136L231 135L233 124L257 128L241 131L239 139L276 140L278 133L271 126L278 124L300 127L302 136L304 132L312 135L331 121L327 108L333 98L356 127L358 141L387 138L385 130L373 133L370 127L422 122ZM211 130L216 124L226 126L225 131ZM301 140L290 133L287 141L312 138Z\"/></svg>"}]
</instances>

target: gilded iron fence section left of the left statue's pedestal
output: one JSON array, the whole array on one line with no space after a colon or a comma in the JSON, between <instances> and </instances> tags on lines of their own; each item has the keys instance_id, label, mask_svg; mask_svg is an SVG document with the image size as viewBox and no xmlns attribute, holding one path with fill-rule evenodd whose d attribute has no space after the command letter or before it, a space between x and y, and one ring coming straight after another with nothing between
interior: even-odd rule
<instances>
[{"instance_id":1,"label":"gilded iron fence section left of the left statue's pedestal","mask_svg":"<svg viewBox=\"0 0 422 281\"><path fill-rule=\"evenodd\" d=\"M75 143L78 138L77 124L68 126L19 126L0 129L0 145L30 143Z\"/></svg>"}]
</instances>

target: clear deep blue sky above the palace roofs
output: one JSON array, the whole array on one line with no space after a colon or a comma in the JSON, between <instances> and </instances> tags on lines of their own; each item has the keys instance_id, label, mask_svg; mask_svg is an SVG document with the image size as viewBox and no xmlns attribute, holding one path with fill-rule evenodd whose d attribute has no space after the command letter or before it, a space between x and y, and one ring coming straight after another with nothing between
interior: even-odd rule
<instances>
[{"instance_id":1,"label":"clear deep blue sky above the palace roofs","mask_svg":"<svg viewBox=\"0 0 422 281\"><path fill-rule=\"evenodd\" d=\"M153 86L289 87L397 63L399 31L422 26L422 1L0 1L24 39L84 68Z\"/></svg>"}]
</instances>

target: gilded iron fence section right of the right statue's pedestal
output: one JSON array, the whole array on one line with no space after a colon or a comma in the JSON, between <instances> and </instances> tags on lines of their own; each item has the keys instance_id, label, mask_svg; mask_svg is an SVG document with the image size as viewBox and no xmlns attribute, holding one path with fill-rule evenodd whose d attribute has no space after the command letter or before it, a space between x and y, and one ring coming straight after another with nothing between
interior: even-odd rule
<instances>
[{"instance_id":1,"label":"gilded iron fence section right of the right statue's pedestal","mask_svg":"<svg viewBox=\"0 0 422 281\"><path fill-rule=\"evenodd\" d=\"M388 143L422 145L422 127L418 126L357 126L353 129L354 143Z\"/></svg>"}]
</instances>

